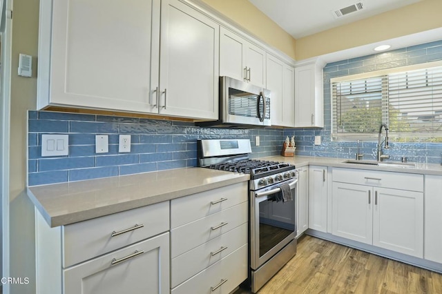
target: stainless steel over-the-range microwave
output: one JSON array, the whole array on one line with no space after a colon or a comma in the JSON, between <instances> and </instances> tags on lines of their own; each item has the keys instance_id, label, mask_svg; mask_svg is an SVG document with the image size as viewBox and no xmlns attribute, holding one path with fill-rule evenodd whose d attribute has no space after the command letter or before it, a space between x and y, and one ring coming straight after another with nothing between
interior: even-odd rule
<instances>
[{"instance_id":1,"label":"stainless steel over-the-range microwave","mask_svg":"<svg viewBox=\"0 0 442 294\"><path fill-rule=\"evenodd\" d=\"M270 90L231 77L220 77L218 121L200 126L271 126Z\"/></svg>"}]
</instances>

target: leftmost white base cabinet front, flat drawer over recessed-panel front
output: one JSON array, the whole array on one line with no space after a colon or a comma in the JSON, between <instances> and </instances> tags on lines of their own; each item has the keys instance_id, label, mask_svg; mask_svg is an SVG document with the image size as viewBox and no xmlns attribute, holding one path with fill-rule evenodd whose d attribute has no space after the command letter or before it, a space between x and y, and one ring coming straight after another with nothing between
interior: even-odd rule
<instances>
[{"instance_id":1,"label":"leftmost white base cabinet front, flat drawer over recessed-panel front","mask_svg":"<svg viewBox=\"0 0 442 294\"><path fill-rule=\"evenodd\" d=\"M169 293L169 202L64 226L64 293Z\"/></svg>"}]
</instances>

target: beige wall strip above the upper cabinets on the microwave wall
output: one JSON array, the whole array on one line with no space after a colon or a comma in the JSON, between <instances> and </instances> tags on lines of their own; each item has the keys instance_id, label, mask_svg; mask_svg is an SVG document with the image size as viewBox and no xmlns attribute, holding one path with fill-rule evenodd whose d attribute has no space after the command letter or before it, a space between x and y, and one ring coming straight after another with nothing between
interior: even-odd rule
<instances>
[{"instance_id":1,"label":"beige wall strip above the upper cabinets on the microwave wall","mask_svg":"<svg viewBox=\"0 0 442 294\"><path fill-rule=\"evenodd\" d=\"M202 0L270 46L296 59L296 40L248 0Z\"/></svg>"}]
</instances>

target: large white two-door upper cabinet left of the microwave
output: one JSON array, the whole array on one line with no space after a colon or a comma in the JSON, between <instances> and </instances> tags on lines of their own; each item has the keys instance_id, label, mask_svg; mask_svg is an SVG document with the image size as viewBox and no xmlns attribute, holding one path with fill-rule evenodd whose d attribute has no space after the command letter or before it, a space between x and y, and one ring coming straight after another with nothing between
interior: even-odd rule
<instances>
[{"instance_id":1,"label":"large white two-door upper cabinet left of the microwave","mask_svg":"<svg viewBox=\"0 0 442 294\"><path fill-rule=\"evenodd\" d=\"M177 0L40 5L39 109L218 118L219 26L200 12Z\"/></svg>"}]
</instances>

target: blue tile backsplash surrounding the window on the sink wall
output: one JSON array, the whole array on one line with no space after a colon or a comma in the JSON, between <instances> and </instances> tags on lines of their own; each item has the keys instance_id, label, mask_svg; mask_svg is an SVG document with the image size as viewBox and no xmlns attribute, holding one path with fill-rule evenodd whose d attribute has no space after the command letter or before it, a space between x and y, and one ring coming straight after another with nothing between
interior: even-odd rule
<instances>
[{"instance_id":1,"label":"blue tile backsplash surrounding the window on the sink wall","mask_svg":"<svg viewBox=\"0 0 442 294\"><path fill-rule=\"evenodd\" d=\"M295 136L296 155L316 157L355 158L358 144L354 142L332 141L332 117L330 101L330 79L363 72L409 66L417 63L442 60L442 40L411 46L390 52L378 53L353 59L328 63L324 68L324 125L322 128L285 129L285 136ZM321 137L321 145L314 145L314 136ZM363 141L360 152L364 159L376 159L376 141ZM442 144L438 143L391 143L384 154L390 161L407 157L408 161L440 164Z\"/></svg>"}]
</instances>

